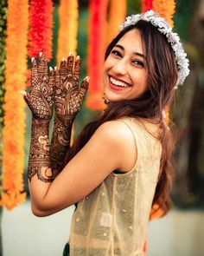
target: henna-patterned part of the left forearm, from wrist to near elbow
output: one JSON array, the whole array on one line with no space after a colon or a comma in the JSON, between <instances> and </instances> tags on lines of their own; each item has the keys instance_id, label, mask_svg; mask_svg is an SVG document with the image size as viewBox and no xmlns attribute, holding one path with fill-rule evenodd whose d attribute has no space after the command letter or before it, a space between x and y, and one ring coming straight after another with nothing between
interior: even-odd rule
<instances>
[{"instance_id":1,"label":"henna-patterned part of the left forearm, from wrist to near elbow","mask_svg":"<svg viewBox=\"0 0 204 256\"><path fill-rule=\"evenodd\" d=\"M29 181L37 175L43 182L54 181L54 169L50 164L50 146L48 139L48 120L33 118L29 150Z\"/></svg>"}]
</instances>

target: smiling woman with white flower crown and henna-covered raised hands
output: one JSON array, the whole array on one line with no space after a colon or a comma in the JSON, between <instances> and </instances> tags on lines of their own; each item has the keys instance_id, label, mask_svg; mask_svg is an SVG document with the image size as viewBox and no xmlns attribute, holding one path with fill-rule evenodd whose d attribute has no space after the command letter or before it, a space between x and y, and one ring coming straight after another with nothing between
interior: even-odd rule
<instances>
[{"instance_id":1,"label":"smiling woman with white flower crown and henna-covered raised hands","mask_svg":"<svg viewBox=\"0 0 204 256\"><path fill-rule=\"evenodd\" d=\"M23 93L33 115L32 211L47 216L77 203L70 255L143 255L151 206L169 211L172 146L163 108L188 75L188 60L179 37L153 11L128 17L105 53L107 108L69 148L88 86L86 78L78 88L79 75L80 57L62 59L49 74L42 54L39 64L32 59L31 89Z\"/></svg>"}]
</instances>

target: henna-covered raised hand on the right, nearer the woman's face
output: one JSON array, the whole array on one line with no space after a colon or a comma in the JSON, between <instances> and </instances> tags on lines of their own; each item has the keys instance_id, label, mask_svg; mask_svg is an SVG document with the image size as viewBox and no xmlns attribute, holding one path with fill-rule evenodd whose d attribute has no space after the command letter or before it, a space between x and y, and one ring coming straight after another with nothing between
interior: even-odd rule
<instances>
[{"instance_id":1,"label":"henna-covered raised hand on the right, nearer the woman's face","mask_svg":"<svg viewBox=\"0 0 204 256\"><path fill-rule=\"evenodd\" d=\"M88 77L80 85L80 56L68 56L61 60L61 67L54 69L54 102L56 117L61 121L74 119L80 111L88 88Z\"/></svg>"}]
</instances>

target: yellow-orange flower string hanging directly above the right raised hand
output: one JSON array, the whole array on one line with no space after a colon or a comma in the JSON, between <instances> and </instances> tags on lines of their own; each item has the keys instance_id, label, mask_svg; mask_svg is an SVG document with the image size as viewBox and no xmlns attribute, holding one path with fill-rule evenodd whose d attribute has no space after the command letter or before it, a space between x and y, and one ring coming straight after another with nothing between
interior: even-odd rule
<instances>
[{"instance_id":1,"label":"yellow-orange flower string hanging directly above the right raised hand","mask_svg":"<svg viewBox=\"0 0 204 256\"><path fill-rule=\"evenodd\" d=\"M78 33L78 0L61 0L59 7L59 32L57 41L57 62L61 62L62 56L68 52L76 55Z\"/></svg>"}]
</instances>

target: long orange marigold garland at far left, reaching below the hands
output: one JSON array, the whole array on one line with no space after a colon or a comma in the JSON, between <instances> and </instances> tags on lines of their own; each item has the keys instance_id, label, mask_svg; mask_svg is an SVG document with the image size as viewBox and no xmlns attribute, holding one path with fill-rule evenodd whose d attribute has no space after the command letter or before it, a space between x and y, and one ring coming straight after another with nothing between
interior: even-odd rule
<instances>
[{"instance_id":1,"label":"long orange marigold garland at far left, reaching below the hands","mask_svg":"<svg viewBox=\"0 0 204 256\"><path fill-rule=\"evenodd\" d=\"M19 6L21 8L19 8ZM29 1L9 0L3 129L3 192L1 204L12 209L26 198L23 191L25 103Z\"/></svg>"}]
</instances>

